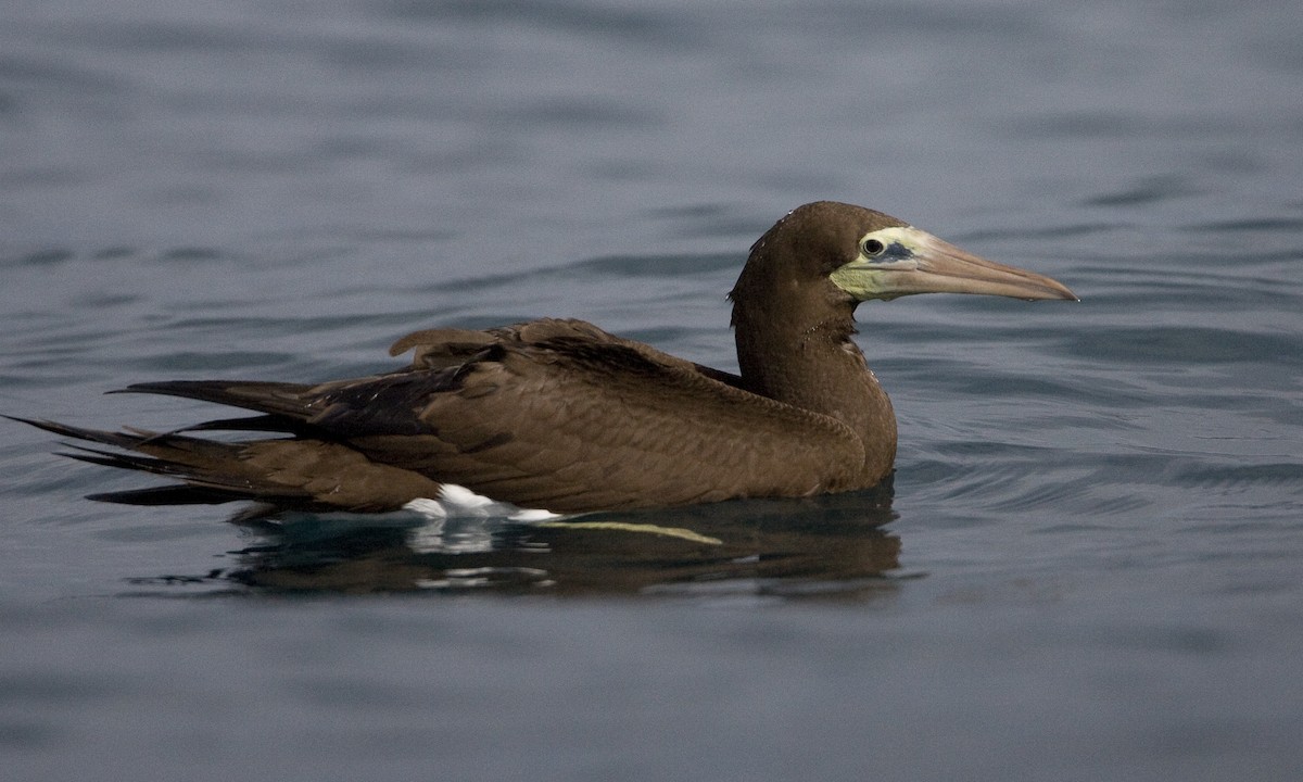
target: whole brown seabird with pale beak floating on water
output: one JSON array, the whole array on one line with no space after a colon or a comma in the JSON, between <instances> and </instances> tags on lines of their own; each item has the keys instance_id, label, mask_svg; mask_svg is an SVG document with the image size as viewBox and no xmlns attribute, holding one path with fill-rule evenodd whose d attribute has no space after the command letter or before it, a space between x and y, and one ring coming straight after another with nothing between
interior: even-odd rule
<instances>
[{"instance_id":1,"label":"whole brown seabird with pale beak floating on water","mask_svg":"<svg viewBox=\"0 0 1303 782\"><path fill-rule=\"evenodd\" d=\"M427 510L474 494L552 512L800 497L891 472L891 403L851 341L869 298L909 293L1075 296L877 211L801 206L751 250L734 304L740 375L582 321L400 339L407 369L317 386L199 381L130 386L255 411L192 430L219 442L27 421L116 446L77 459L179 478L95 495L137 504L253 499L261 508ZM423 503L423 504L422 504Z\"/></svg>"}]
</instances>

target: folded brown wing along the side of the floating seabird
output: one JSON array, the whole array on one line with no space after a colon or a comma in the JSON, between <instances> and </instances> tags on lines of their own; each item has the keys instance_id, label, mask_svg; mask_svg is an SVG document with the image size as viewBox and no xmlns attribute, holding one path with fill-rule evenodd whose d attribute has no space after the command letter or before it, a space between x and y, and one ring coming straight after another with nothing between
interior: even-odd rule
<instances>
[{"instance_id":1,"label":"folded brown wing along the side of the floating seabird","mask_svg":"<svg viewBox=\"0 0 1303 782\"><path fill-rule=\"evenodd\" d=\"M408 349L410 368L353 381L169 382L128 391L263 413L192 429L293 434L244 447L257 455L246 461L293 473L296 484L356 485L301 463L323 446L332 456L343 447L421 478L396 481L382 471L373 484L427 491L459 484L554 512L835 491L853 487L864 461L859 437L831 417L751 394L736 375L581 321L422 331L391 352ZM348 464L332 457L318 467Z\"/></svg>"}]
</instances>

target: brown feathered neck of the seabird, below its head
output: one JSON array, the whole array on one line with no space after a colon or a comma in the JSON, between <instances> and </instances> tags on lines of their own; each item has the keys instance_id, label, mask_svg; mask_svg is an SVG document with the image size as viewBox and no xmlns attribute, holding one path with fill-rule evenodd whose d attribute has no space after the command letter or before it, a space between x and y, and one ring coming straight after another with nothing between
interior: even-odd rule
<instances>
[{"instance_id":1,"label":"brown feathered neck of the seabird, below its head","mask_svg":"<svg viewBox=\"0 0 1303 782\"><path fill-rule=\"evenodd\" d=\"M735 306L743 383L754 394L842 421L864 439L865 471L883 476L895 459L891 400L851 339L851 311L823 315L757 322Z\"/></svg>"}]
</instances>

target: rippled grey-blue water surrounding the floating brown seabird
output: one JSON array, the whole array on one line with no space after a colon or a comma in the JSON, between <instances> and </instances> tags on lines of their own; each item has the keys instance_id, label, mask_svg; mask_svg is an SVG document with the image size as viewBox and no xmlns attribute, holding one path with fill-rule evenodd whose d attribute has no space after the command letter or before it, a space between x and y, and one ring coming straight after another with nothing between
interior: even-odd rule
<instances>
[{"instance_id":1,"label":"rippled grey-blue water surrounding the floating brown seabird","mask_svg":"<svg viewBox=\"0 0 1303 782\"><path fill-rule=\"evenodd\" d=\"M1083 298L861 308L891 495L615 529L96 504L142 478L5 425L4 778L1303 772L1296 3L0 18L9 414L175 426L100 392L538 315L730 368L816 198Z\"/></svg>"}]
</instances>

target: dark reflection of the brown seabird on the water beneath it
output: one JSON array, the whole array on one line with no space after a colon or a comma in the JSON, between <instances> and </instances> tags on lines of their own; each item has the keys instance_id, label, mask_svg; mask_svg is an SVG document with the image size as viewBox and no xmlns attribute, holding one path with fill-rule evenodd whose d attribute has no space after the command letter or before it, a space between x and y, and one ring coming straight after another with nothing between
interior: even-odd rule
<instances>
[{"instance_id":1,"label":"dark reflection of the brown seabird on the water beneath it","mask_svg":"<svg viewBox=\"0 0 1303 782\"><path fill-rule=\"evenodd\" d=\"M275 533L240 551L235 567L185 579L296 592L650 589L710 600L872 598L893 589L882 576L900 567L900 538L880 529L895 517L890 484L799 503L753 499L538 524L281 514ZM818 524L794 524L794 511ZM164 576L156 584L176 579Z\"/></svg>"}]
</instances>

